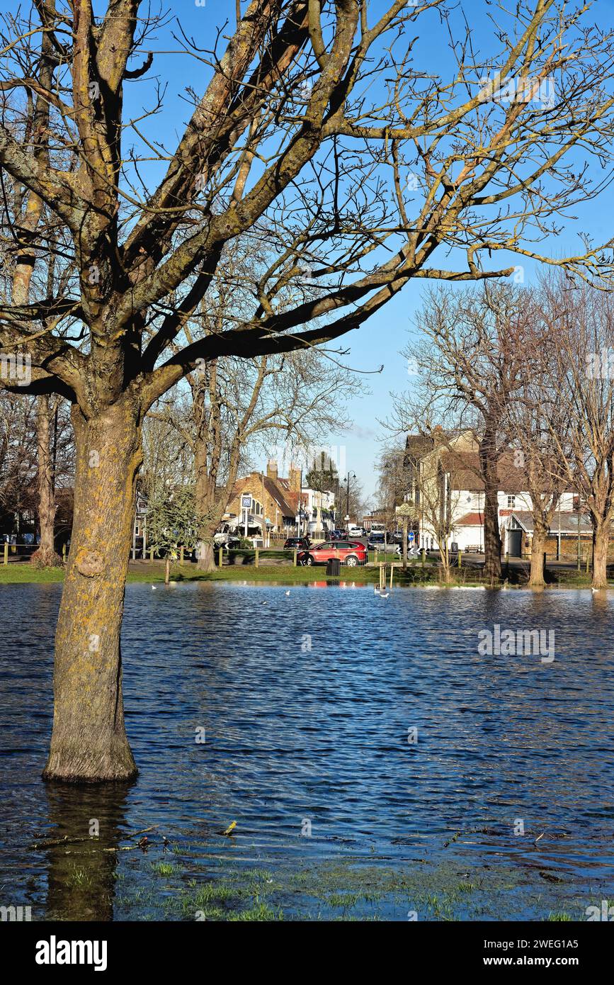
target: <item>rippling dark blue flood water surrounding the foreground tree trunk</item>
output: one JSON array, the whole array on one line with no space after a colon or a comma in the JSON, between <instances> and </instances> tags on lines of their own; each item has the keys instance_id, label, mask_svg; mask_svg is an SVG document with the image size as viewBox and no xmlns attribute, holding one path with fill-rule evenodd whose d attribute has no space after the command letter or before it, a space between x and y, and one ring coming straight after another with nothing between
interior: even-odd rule
<instances>
[{"instance_id":1,"label":"rippling dark blue flood water surrounding the foreground tree trunk","mask_svg":"<svg viewBox=\"0 0 614 985\"><path fill-rule=\"evenodd\" d=\"M584 920L613 901L614 594L287 591L128 586L140 775L109 789L40 780L61 586L0 586L1 905ZM480 653L495 624L552 630L554 660Z\"/></svg>"}]
</instances>

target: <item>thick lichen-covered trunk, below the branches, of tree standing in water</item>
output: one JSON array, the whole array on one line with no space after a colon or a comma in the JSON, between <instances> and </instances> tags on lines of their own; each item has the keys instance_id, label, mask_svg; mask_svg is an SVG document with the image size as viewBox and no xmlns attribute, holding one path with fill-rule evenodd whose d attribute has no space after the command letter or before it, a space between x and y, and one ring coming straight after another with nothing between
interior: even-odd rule
<instances>
[{"instance_id":1,"label":"thick lichen-covered trunk, below the branches, of tree standing in water","mask_svg":"<svg viewBox=\"0 0 614 985\"><path fill-rule=\"evenodd\" d=\"M124 728L120 650L142 461L137 415L127 398L91 420L73 409L75 516L55 637L45 779L97 782L137 774Z\"/></svg>"}]
</instances>

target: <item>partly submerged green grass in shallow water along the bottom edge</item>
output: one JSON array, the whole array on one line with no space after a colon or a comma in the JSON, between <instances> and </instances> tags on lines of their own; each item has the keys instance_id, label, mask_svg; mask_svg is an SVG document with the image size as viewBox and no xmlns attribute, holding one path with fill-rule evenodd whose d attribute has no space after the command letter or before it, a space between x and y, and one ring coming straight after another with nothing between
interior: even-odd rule
<instances>
[{"instance_id":1,"label":"partly submerged green grass in shallow water along the bottom edge","mask_svg":"<svg viewBox=\"0 0 614 985\"><path fill-rule=\"evenodd\" d=\"M116 899L116 919L585 920L586 900L571 886L553 884L536 893L530 871L522 869L484 867L467 874L452 861L424 860L393 869L378 857L368 865L341 859L298 871L226 869L221 858L216 867L219 876L214 871L212 878L211 863L207 875L186 858L150 864L152 886L141 883L133 896ZM165 879L162 889L159 875L172 882Z\"/></svg>"}]
</instances>

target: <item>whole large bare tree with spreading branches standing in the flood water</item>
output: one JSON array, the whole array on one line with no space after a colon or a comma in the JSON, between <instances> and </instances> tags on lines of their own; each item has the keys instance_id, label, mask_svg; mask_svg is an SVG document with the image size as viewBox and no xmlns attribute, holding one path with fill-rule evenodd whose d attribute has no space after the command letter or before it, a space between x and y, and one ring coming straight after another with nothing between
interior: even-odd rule
<instances>
[{"instance_id":1,"label":"whole large bare tree with spreading branches standing in the flood water","mask_svg":"<svg viewBox=\"0 0 614 985\"><path fill-rule=\"evenodd\" d=\"M510 251L540 258L567 207L602 183L611 36L563 0L519 0L494 25L492 12L487 66L443 0L253 0L234 33L220 28L214 51L178 29L198 93L188 90L193 112L169 149L151 74L150 38L164 29L145 4L110 0L96 16L91 0L34 0L7 16L0 166L25 188L27 209L39 200L68 231L65 262L77 272L52 296L31 284L29 298L0 305L0 347L29 354L30 392L73 405L75 523L45 777L136 774L120 628L141 429L155 401L199 361L336 340L415 277L509 275ZM434 71L434 32L451 53L448 78ZM33 131L28 99L40 110ZM597 186L578 155L568 162L577 149L596 161ZM165 169L157 187L152 159ZM250 318L173 351L223 281L224 245L246 234L270 243ZM9 262L24 247L36 263L56 248L39 226L3 245ZM438 248L459 266L439 266ZM500 250L504 265L486 269ZM609 271L587 241L550 259L587 278ZM309 295L277 307L281 288L306 273ZM95 659L84 657L92 638Z\"/></svg>"}]
</instances>

